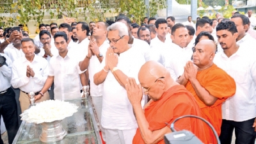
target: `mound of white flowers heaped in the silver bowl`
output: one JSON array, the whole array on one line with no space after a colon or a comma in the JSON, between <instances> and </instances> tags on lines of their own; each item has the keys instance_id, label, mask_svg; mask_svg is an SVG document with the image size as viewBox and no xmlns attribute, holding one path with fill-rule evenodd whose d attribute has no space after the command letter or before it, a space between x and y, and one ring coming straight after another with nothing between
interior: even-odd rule
<instances>
[{"instance_id":1,"label":"mound of white flowers heaped in the silver bowl","mask_svg":"<svg viewBox=\"0 0 256 144\"><path fill-rule=\"evenodd\" d=\"M20 116L28 123L41 124L63 120L77 112L78 106L63 100L45 100L27 109Z\"/></svg>"}]
</instances>

